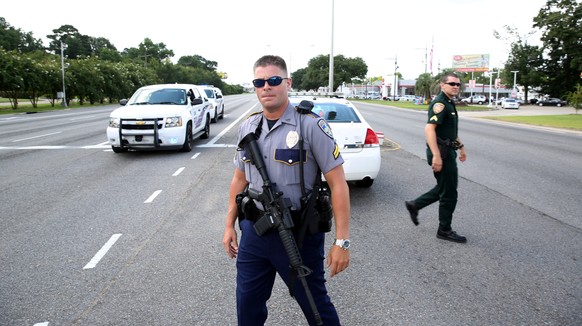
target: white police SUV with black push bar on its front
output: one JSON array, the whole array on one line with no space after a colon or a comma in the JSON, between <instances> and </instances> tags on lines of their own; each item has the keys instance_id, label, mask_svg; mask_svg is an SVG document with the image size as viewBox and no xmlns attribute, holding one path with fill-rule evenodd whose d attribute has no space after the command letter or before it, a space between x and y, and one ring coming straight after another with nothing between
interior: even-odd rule
<instances>
[{"instance_id":1,"label":"white police SUV with black push bar on its front","mask_svg":"<svg viewBox=\"0 0 582 326\"><path fill-rule=\"evenodd\" d=\"M200 86L161 84L139 88L109 115L107 140L115 153L128 149L180 149L210 134L210 103Z\"/></svg>"}]
</instances>

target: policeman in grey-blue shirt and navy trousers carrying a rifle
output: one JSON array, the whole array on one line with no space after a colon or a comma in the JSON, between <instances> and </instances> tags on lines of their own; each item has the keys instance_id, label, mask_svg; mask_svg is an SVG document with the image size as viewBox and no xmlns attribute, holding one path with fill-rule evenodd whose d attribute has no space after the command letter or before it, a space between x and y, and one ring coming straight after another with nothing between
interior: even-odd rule
<instances>
[{"instance_id":1,"label":"policeman in grey-blue shirt and navy trousers carrying a rifle","mask_svg":"<svg viewBox=\"0 0 582 326\"><path fill-rule=\"evenodd\" d=\"M303 185L307 192L320 178L325 176L331 190L331 204L335 225L334 244L327 256L330 277L344 271L350 262L349 219L350 197L345 180L343 159L327 122L311 113L301 113L289 103L288 77L285 61L278 56L263 56L253 67L256 94L262 111L248 117L239 128L239 141L251 132L259 135L257 144L263 155L270 181L277 191L290 199L291 211L301 207L301 169ZM258 130L257 130L258 129ZM299 140L303 140L305 155L299 155ZM303 162L300 162L303 157ZM267 319L267 300L271 296L276 274L285 281L299 303L307 321L315 325L314 313L308 295L300 282L294 282L289 258L277 232L258 235L253 228L261 216L261 203L255 203L258 214L239 219L240 244L235 223L238 216L237 195L245 189L261 192L263 180L255 165L238 150L235 172L230 184L229 206L226 216L223 245L229 257L236 257L237 266L237 317L239 325L264 325ZM321 172L320 172L321 171ZM301 226L297 226L300 229ZM339 325L337 311L328 296L324 277L325 233L311 232L300 244L303 263L312 273L306 277L309 291L324 325Z\"/></svg>"}]
</instances>

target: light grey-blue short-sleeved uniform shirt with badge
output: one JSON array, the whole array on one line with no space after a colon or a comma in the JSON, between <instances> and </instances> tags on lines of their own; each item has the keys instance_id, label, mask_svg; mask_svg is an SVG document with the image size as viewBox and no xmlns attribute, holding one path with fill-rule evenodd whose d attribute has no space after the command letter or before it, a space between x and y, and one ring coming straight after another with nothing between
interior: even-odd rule
<instances>
[{"instance_id":1,"label":"light grey-blue short-sleeved uniform shirt with badge","mask_svg":"<svg viewBox=\"0 0 582 326\"><path fill-rule=\"evenodd\" d=\"M263 155L267 175L275 183L275 191L283 192L293 203L293 209L301 208L301 172L299 167L299 138L303 136L303 174L305 191L313 187L317 166L325 174L343 164L339 148L335 143L329 124L314 113L301 114L289 103L283 116L269 130L262 114L247 118L238 131L238 142L254 133L263 119L262 130L257 141ZM262 192L263 179L257 168L251 164L245 151L237 151L234 164L244 171L249 188Z\"/></svg>"}]
</instances>

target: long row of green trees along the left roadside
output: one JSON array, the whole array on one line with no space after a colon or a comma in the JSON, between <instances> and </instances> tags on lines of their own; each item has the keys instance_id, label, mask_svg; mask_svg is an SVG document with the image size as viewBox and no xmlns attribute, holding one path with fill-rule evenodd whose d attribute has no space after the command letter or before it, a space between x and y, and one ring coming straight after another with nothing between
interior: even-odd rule
<instances>
[{"instance_id":1,"label":"long row of green trees along the left roadside","mask_svg":"<svg viewBox=\"0 0 582 326\"><path fill-rule=\"evenodd\" d=\"M45 47L31 32L0 17L0 96L7 97L13 109L22 98L36 108L38 100L46 97L54 106L63 91L63 64L67 105L72 99L81 105L114 103L141 86L159 83L214 85L224 94L243 92L242 86L223 81L227 76L217 71L217 62L190 55L174 64L170 61L174 52L149 38L123 51L71 25L54 29L47 38Z\"/></svg>"}]
</instances>

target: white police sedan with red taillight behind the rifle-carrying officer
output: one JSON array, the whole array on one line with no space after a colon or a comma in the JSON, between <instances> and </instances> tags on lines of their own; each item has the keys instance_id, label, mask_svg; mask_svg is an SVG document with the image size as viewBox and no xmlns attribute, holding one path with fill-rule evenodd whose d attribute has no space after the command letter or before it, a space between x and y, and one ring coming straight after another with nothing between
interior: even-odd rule
<instances>
[{"instance_id":1,"label":"white police sedan with red taillight behind the rifle-carrying officer","mask_svg":"<svg viewBox=\"0 0 582 326\"><path fill-rule=\"evenodd\" d=\"M344 98L290 96L294 106L302 100L313 103L311 110L323 117L331 127L333 137L344 159L348 182L370 187L380 171L380 143L376 132L352 102ZM325 178L323 179L325 181Z\"/></svg>"}]
</instances>

